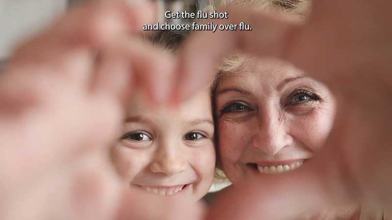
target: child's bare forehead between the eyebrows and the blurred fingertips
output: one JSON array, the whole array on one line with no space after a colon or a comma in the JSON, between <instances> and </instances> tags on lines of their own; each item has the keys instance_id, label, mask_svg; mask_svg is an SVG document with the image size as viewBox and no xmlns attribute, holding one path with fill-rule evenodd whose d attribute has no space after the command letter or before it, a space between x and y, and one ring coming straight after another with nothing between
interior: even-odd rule
<instances>
[{"instance_id":1,"label":"child's bare forehead between the eyebrows and the blurred fingertips","mask_svg":"<svg viewBox=\"0 0 392 220\"><path fill-rule=\"evenodd\" d=\"M179 105L156 105L144 95L135 95L128 102L127 116L149 118L175 117L189 120L192 118L212 118L211 96L208 89L202 89Z\"/></svg>"}]
</instances>

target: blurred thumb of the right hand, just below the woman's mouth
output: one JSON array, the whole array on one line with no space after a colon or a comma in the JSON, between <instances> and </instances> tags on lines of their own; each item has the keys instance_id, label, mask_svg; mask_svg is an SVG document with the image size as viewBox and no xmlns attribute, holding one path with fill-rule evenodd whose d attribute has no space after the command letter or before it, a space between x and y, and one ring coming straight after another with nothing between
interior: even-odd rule
<instances>
[{"instance_id":1,"label":"blurred thumb of the right hand, just below the woman's mouth","mask_svg":"<svg viewBox=\"0 0 392 220\"><path fill-rule=\"evenodd\" d=\"M314 165L313 161L294 172L246 179L213 203L207 220L310 219L320 211L352 204L335 187L340 183L323 177L327 169Z\"/></svg>"}]
</instances>

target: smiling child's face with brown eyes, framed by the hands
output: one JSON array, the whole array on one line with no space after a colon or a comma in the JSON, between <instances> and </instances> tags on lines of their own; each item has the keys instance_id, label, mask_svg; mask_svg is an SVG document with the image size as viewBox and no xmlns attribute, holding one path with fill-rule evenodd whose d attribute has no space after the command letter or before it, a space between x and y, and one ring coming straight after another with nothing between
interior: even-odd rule
<instances>
[{"instance_id":1,"label":"smiling child's face with brown eyes, framed by the hands","mask_svg":"<svg viewBox=\"0 0 392 220\"><path fill-rule=\"evenodd\" d=\"M112 155L130 185L197 201L213 181L213 140L211 101L204 89L177 107L152 109L142 99L132 100Z\"/></svg>"}]
</instances>

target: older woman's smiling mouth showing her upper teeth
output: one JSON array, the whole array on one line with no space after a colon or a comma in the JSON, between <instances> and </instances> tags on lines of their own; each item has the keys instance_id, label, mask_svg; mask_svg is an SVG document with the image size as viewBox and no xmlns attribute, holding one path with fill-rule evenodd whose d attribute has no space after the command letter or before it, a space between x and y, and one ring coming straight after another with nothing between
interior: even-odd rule
<instances>
[{"instance_id":1,"label":"older woman's smiling mouth showing her upper teeth","mask_svg":"<svg viewBox=\"0 0 392 220\"><path fill-rule=\"evenodd\" d=\"M269 161L250 163L252 167L257 168L261 174L277 174L293 171L299 168L305 159Z\"/></svg>"}]
</instances>

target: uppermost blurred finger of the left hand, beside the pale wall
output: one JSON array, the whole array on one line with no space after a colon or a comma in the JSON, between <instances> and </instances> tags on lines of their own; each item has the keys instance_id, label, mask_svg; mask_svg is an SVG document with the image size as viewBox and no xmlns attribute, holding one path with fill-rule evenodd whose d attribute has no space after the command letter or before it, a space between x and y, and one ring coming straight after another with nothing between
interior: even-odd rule
<instances>
[{"instance_id":1,"label":"uppermost blurred finger of the left hand, beside the pale wall","mask_svg":"<svg viewBox=\"0 0 392 220\"><path fill-rule=\"evenodd\" d=\"M72 9L19 50L40 51L47 48L43 45L62 45L65 49L73 46L106 47L116 42L119 36L128 35L129 29L142 30L144 23L153 22L155 10L150 3L127 5L122 0L88 1Z\"/></svg>"}]
</instances>

